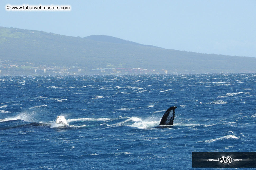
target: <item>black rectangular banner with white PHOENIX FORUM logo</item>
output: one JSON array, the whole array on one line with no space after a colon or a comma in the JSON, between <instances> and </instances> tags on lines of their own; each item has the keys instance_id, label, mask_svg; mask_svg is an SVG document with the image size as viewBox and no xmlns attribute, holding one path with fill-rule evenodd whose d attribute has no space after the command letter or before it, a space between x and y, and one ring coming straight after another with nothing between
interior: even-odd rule
<instances>
[{"instance_id":1,"label":"black rectangular banner with white PHOENIX FORUM logo","mask_svg":"<svg viewBox=\"0 0 256 170\"><path fill-rule=\"evenodd\" d=\"M256 152L192 152L193 168L256 168Z\"/></svg>"}]
</instances>

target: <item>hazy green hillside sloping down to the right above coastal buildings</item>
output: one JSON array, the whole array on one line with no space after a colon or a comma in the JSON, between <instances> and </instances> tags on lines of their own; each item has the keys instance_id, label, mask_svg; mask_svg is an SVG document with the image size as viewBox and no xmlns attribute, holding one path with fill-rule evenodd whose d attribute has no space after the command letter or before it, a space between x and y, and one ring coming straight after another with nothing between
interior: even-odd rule
<instances>
[{"instance_id":1,"label":"hazy green hillside sloping down to the right above coastal buildings","mask_svg":"<svg viewBox=\"0 0 256 170\"><path fill-rule=\"evenodd\" d=\"M16 65L167 69L168 73L256 72L256 58L202 54L142 45L119 38L85 38L0 27L0 59ZM2 68L0 67L0 70Z\"/></svg>"}]
</instances>

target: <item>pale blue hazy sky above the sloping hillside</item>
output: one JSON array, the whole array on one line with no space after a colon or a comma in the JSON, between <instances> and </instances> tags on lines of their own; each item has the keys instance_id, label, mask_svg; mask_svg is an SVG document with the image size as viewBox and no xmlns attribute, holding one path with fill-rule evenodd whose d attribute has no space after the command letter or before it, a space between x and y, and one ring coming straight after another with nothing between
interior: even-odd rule
<instances>
[{"instance_id":1,"label":"pale blue hazy sky above the sloping hillside","mask_svg":"<svg viewBox=\"0 0 256 170\"><path fill-rule=\"evenodd\" d=\"M6 4L68 4L70 12L8 12ZM256 1L2 0L0 26L85 37L110 35L200 53L256 57Z\"/></svg>"}]
</instances>

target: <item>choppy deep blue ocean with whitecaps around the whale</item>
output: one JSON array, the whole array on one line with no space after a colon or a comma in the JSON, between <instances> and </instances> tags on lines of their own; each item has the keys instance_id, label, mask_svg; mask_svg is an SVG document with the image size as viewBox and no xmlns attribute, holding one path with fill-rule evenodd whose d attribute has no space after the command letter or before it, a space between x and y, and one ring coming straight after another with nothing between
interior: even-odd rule
<instances>
[{"instance_id":1,"label":"choppy deep blue ocean with whitecaps around the whale","mask_svg":"<svg viewBox=\"0 0 256 170\"><path fill-rule=\"evenodd\" d=\"M0 169L192 169L192 151L256 151L255 87L255 73L1 76ZM174 125L154 128L171 106Z\"/></svg>"}]
</instances>

